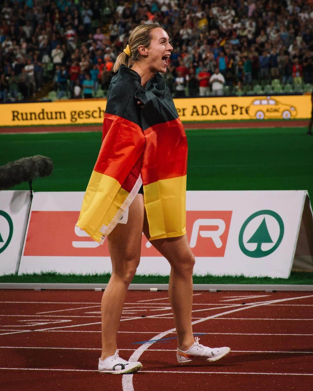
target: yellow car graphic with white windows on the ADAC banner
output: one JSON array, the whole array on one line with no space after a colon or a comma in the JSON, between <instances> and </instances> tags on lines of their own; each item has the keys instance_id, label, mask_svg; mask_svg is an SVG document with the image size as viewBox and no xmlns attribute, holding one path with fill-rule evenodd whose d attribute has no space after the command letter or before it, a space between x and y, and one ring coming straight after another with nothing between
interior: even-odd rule
<instances>
[{"instance_id":1,"label":"yellow car graphic with white windows on the ADAC banner","mask_svg":"<svg viewBox=\"0 0 313 391\"><path fill-rule=\"evenodd\" d=\"M290 119L297 116L297 109L272 97L257 97L249 105L249 115L257 120L268 118Z\"/></svg>"}]
</instances>

